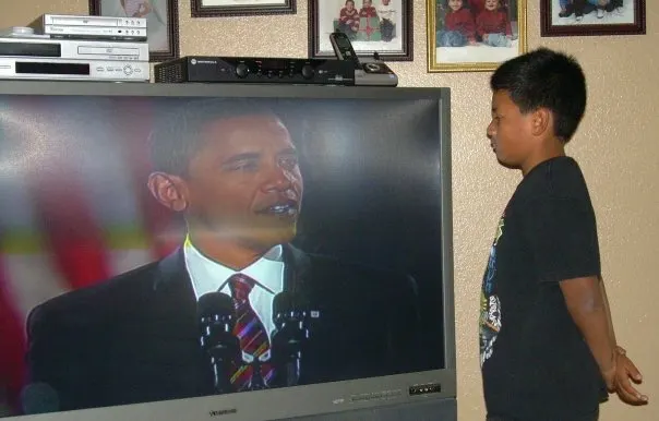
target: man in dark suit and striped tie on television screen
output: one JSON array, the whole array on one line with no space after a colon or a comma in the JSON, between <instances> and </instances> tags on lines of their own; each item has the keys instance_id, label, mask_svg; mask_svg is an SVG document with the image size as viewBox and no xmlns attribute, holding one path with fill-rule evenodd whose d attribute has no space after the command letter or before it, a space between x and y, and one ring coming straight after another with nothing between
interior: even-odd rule
<instances>
[{"instance_id":1,"label":"man in dark suit and striped tie on television screen","mask_svg":"<svg viewBox=\"0 0 659 421\"><path fill-rule=\"evenodd\" d=\"M29 382L59 410L424 369L411 279L291 245L303 180L277 116L239 99L196 100L156 124L151 140L148 189L183 216L184 240L161 261L31 313ZM200 300L217 292L229 300L231 328L202 340ZM277 317L291 303L305 312L303 332L298 348L277 350ZM214 365L202 346L209 340L239 357ZM286 352L292 374L280 363Z\"/></svg>"}]
</instances>

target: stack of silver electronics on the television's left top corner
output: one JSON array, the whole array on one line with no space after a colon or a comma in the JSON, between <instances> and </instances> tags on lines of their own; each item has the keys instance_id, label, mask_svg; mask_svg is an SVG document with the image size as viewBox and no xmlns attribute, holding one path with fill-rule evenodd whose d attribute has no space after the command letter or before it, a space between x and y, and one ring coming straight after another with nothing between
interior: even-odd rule
<instances>
[{"instance_id":1,"label":"stack of silver electronics on the television's left top corner","mask_svg":"<svg viewBox=\"0 0 659 421\"><path fill-rule=\"evenodd\" d=\"M44 14L0 32L0 80L148 82L146 19Z\"/></svg>"}]
</instances>

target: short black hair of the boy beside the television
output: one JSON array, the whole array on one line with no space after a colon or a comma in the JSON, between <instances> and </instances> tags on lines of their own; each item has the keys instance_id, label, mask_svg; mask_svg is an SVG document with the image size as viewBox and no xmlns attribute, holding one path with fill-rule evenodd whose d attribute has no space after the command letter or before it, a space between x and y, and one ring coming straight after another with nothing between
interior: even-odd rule
<instances>
[{"instance_id":1,"label":"short black hair of the boy beside the television","mask_svg":"<svg viewBox=\"0 0 659 421\"><path fill-rule=\"evenodd\" d=\"M539 48L511 59L492 74L492 91L507 91L522 113L547 108L554 134L570 142L586 110L586 76L572 56Z\"/></svg>"}]
</instances>

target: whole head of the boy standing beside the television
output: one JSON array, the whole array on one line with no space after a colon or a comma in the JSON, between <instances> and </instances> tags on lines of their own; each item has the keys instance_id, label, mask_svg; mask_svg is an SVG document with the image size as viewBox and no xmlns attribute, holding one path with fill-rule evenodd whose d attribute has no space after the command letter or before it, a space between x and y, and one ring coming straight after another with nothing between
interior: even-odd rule
<instances>
[{"instance_id":1,"label":"whole head of the boy standing beside the television","mask_svg":"<svg viewBox=\"0 0 659 421\"><path fill-rule=\"evenodd\" d=\"M511 166L520 165L518 160L538 146L531 141L560 146L570 142L586 109L586 79L580 65L573 57L547 48L501 64L490 87L493 99L488 136L500 160ZM501 115L504 108L508 116ZM512 123L511 113L518 118L508 135L505 130Z\"/></svg>"}]
</instances>

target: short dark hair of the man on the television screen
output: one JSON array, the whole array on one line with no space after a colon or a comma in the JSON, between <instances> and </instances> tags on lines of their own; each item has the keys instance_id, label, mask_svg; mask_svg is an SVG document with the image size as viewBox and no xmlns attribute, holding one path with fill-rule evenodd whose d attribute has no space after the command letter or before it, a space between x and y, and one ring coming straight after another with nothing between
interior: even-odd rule
<instances>
[{"instance_id":1,"label":"short dark hair of the man on the television screen","mask_svg":"<svg viewBox=\"0 0 659 421\"><path fill-rule=\"evenodd\" d=\"M261 115L278 118L263 99L203 98L182 104L177 99L169 112L156 120L149 134L152 169L185 177L190 159L203 146L201 132L205 124L219 119Z\"/></svg>"}]
</instances>

